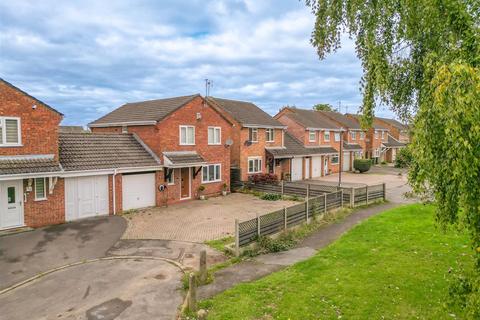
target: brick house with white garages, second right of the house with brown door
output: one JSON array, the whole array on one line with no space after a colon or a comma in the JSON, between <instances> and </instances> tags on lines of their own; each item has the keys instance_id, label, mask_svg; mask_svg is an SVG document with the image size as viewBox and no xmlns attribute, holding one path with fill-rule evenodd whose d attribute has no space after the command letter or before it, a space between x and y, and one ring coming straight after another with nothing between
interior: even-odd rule
<instances>
[{"instance_id":1,"label":"brick house with white garages, second right of the house with brown door","mask_svg":"<svg viewBox=\"0 0 480 320\"><path fill-rule=\"evenodd\" d=\"M287 131L305 148L319 150L318 147L325 147L336 150L334 153L308 156L304 163L304 178L337 173L340 165L342 171L353 170L353 159L361 154L362 147L356 140L351 141L349 128L316 110L287 107L280 110L275 118L287 125Z\"/></svg>"}]
</instances>

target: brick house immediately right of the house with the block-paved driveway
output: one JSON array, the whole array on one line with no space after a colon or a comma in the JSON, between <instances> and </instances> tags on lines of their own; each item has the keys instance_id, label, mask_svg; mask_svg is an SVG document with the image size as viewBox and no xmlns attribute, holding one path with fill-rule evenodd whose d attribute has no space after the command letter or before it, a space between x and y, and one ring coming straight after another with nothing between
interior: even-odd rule
<instances>
[{"instance_id":1,"label":"brick house immediately right of the house with the block-paved driveway","mask_svg":"<svg viewBox=\"0 0 480 320\"><path fill-rule=\"evenodd\" d=\"M267 156L268 150L285 147L284 124L251 102L215 97L208 97L208 102L234 124L230 160L241 181L257 173L290 177L290 160L273 161Z\"/></svg>"}]
</instances>

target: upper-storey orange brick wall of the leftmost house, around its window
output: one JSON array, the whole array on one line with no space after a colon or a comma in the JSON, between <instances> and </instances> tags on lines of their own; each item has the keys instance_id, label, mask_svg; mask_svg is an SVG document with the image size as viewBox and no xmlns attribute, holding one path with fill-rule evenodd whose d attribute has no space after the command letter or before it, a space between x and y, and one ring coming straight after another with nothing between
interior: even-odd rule
<instances>
[{"instance_id":1,"label":"upper-storey orange brick wall of the leftmost house, around its window","mask_svg":"<svg viewBox=\"0 0 480 320\"><path fill-rule=\"evenodd\" d=\"M0 155L54 154L58 159L60 114L0 81L0 116L19 117L22 135L22 146L0 147Z\"/></svg>"}]
</instances>

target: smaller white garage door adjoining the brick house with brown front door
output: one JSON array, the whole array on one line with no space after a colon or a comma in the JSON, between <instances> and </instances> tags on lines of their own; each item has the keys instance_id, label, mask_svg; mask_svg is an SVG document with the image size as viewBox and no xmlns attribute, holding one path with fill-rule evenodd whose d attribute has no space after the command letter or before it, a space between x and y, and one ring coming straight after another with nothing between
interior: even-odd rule
<instances>
[{"instance_id":1,"label":"smaller white garage door adjoining the brick house with brown front door","mask_svg":"<svg viewBox=\"0 0 480 320\"><path fill-rule=\"evenodd\" d=\"M123 210L155 205L155 173L122 175Z\"/></svg>"}]
</instances>

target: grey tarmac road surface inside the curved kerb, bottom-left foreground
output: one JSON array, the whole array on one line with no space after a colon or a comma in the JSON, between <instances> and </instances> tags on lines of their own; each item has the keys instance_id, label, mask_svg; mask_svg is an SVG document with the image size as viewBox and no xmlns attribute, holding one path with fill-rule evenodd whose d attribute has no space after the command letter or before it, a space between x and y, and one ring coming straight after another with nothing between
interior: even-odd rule
<instances>
[{"instance_id":1,"label":"grey tarmac road surface inside the curved kerb, bottom-left foreground","mask_svg":"<svg viewBox=\"0 0 480 320\"><path fill-rule=\"evenodd\" d=\"M0 295L0 318L175 319L181 277L178 267L157 260L81 264Z\"/></svg>"}]
</instances>

